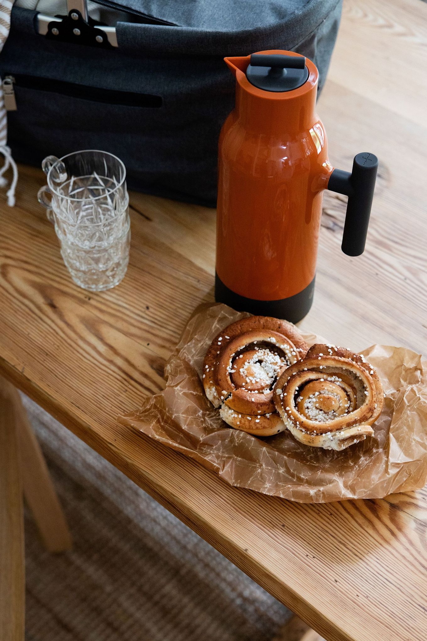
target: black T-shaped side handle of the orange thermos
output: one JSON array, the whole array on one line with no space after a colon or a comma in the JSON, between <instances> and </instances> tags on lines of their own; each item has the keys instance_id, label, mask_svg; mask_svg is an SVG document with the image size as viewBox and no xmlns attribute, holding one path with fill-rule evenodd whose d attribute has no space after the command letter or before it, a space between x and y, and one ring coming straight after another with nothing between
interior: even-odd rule
<instances>
[{"instance_id":1,"label":"black T-shaped side handle of the orange thermos","mask_svg":"<svg viewBox=\"0 0 427 641\"><path fill-rule=\"evenodd\" d=\"M334 169L330 175L328 189L348 196L341 245L348 256L360 256L364 252L377 169L378 158L364 152L355 156L351 174Z\"/></svg>"}]
</instances>

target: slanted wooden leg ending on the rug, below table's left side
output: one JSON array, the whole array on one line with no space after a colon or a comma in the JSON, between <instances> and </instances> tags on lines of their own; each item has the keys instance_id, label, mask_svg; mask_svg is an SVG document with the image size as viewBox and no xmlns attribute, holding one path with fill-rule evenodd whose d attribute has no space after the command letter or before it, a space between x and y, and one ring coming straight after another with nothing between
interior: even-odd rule
<instances>
[{"instance_id":1,"label":"slanted wooden leg ending on the rug, below table's left side","mask_svg":"<svg viewBox=\"0 0 427 641\"><path fill-rule=\"evenodd\" d=\"M24 496L47 550L62 552L70 549L72 540L67 521L56 495L40 445L35 437L18 390L1 379L13 401L17 416L17 435L22 462Z\"/></svg>"}]
</instances>

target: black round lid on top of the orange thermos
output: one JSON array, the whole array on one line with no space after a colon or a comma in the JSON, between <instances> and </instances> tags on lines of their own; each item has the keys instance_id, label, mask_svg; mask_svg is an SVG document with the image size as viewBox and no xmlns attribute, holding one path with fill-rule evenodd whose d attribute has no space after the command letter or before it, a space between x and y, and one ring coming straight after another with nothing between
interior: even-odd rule
<instances>
[{"instance_id":1,"label":"black round lid on top of the orange thermos","mask_svg":"<svg viewBox=\"0 0 427 641\"><path fill-rule=\"evenodd\" d=\"M281 53L253 53L246 69L248 81L265 91L291 91L301 87L308 77L304 56Z\"/></svg>"}]
</instances>

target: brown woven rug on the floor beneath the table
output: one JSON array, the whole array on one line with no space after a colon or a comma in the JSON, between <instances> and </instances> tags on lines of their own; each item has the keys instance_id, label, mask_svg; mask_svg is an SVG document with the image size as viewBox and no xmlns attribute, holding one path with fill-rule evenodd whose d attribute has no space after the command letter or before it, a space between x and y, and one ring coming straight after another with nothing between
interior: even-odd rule
<instances>
[{"instance_id":1,"label":"brown woven rug on the floor beneath the table","mask_svg":"<svg viewBox=\"0 0 427 641\"><path fill-rule=\"evenodd\" d=\"M26 512L26 641L271 641L290 613L28 398L74 547Z\"/></svg>"}]
</instances>

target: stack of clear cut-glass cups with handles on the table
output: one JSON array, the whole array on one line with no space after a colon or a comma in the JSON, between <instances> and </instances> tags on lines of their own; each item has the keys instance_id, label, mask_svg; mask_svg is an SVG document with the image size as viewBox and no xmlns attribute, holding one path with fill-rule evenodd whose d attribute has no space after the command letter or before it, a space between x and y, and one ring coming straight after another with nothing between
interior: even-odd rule
<instances>
[{"instance_id":1,"label":"stack of clear cut-glass cups with handles on the table","mask_svg":"<svg viewBox=\"0 0 427 641\"><path fill-rule=\"evenodd\" d=\"M131 239L125 167L112 154L79 151L49 156L47 184L61 255L74 282L100 292L118 285Z\"/></svg>"}]
</instances>

